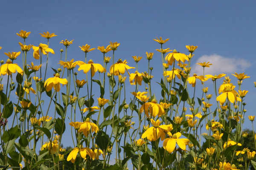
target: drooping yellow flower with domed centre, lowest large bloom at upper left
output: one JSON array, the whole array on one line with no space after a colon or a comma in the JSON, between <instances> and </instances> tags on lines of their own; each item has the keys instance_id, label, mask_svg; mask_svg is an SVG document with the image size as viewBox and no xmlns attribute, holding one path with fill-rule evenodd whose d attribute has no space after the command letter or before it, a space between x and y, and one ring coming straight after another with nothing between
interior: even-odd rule
<instances>
[{"instance_id":1,"label":"drooping yellow flower with domed centre, lowest large bloom at upper left","mask_svg":"<svg viewBox=\"0 0 256 170\"><path fill-rule=\"evenodd\" d=\"M67 79L61 79L60 74L56 73L54 77L48 78L44 82L44 87L46 88L46 91L52 90L52 87L54 88L55 91L60 91L61 84L66 85L67 84Z\"/></svg>"}]
</instances>

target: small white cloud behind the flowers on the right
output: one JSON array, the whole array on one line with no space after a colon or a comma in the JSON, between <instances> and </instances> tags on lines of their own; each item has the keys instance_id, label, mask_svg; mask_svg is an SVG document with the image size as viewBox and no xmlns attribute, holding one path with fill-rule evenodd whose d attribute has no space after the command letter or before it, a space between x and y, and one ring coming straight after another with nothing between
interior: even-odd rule
<instances>
[{"instance_id":1,"label":"small white cloud behind the flowers on the right","mask_svg":"<svg viewBox=\"0 0 256 170\"><path fill-rule=\"evenodd\" d=\"M229 57L223 57L217 54L212 55L203 55L202 57L198 58L196 63L198 62L209 62L212 65L210 67L204 68L204 74L228 74L228 73L241 73L244 72L245 69L249 68L251 66L250 62L246 61L245 59L240 58L229 58ZM192 66L191 73L202 75L203 74L203 68L201 65L195 64Z\"/></svg>"}]
</instances>

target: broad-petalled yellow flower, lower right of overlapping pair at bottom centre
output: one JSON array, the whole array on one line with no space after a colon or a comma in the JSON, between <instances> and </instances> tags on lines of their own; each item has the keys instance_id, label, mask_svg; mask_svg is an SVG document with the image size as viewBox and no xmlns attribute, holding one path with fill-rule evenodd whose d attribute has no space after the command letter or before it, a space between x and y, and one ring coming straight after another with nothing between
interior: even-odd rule
<instances>
[{"instance_id":1,"label":"broad-petalled yellow flower, lower right of overlapping pair at bottom centre","mask_svg":"<svg viewBox=\"0 0 256 170\"><path fill-rule=\"evenodd\" d=\"M169 153L172 153L177 145L182 150L186 150L186 145L189 144L189 139L179 139L181 136L180 132L177 132L172 135L172 138L167 138L163 141L163 148L167 150Z\"/></svg>"}]
</instances>

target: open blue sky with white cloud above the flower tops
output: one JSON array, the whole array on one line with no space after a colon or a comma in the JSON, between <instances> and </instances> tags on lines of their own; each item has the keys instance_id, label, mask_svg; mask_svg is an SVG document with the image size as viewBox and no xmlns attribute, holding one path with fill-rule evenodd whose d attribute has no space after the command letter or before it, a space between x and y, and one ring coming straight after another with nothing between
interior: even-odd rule
<instances>
[{"instance_id":1,"label":"open blue sky with white cloud above the flower tops","mask_svg":"<svg viewBox=\"0 0 256 170\"><path fill-rule=\"evenodd\" d=\"M160 53L155 51L160 45L153 39L169 38L163 48L188 54L186 45L198 46L192 59L194 72L200 73L200 66L195 63L209 61L214 64L209 74L225 73L233 84L237 80L231 74L248 74L250 78L245 79L242 86L242 90L249 91L245 100L246 115L256 115L253 108L256 95L253 84L256 81L255 7L254 0L2 0L0 46L3 49L0 50L0 59L7 59L4 52L20 51L18 42L22 39L16 35L18 31L31 31L26 44L35 46L47 43L39 33L49 31L58 35L50 39L50 48L55 55L50 54L49 67L54 68L59 61L59 50L64 48L59 43L61 40L74 39L68 48L67 60L82 61L84 53L78 46L89 44L97 48L112 41L121 43L115 58L127 59L130 66L135 66L131 56L145 59L146 51L154 52L151 63L155 63L157 74L162 71ZM39 64L32 58L32 51L28 54L29 63ZM88 58L102 63L102 53L98 50L90 52ZM147 63L146 59L139 63L140 72L146 71L143 61ZM49 77L52 74L49 70ZM160 79L154 81L160 82ZM212 88L212 82L208 84Z\"/></svg>"}]
</instances>

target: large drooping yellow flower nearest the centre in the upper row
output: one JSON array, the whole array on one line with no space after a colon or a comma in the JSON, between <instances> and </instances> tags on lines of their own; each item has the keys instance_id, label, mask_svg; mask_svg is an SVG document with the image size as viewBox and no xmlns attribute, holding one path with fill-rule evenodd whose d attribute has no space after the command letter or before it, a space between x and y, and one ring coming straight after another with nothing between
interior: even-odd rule
<instances>
[{"instance_id":1,"label":"large drooping yellow flower nearest the centre in the upper row","mask_svg":"<svg viewBox=\"0 0 256 170\"><path fill-rule=\"evenodd\" d=\"M126 70L127 73L129 74L128 69L135 68L135 67L130 67L126 63L127 63L126 59L124 61L122 61L122 59L119 59L118 62L116 62L116 64L111 65L109 69L110 73L113 74L114 72L114 75L118 76L119 74L125 74L125 70Z\"/></svg>"}]
</instances>

